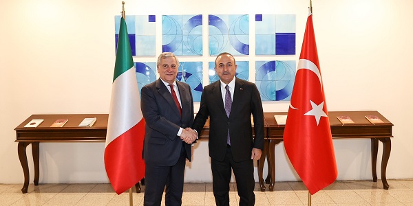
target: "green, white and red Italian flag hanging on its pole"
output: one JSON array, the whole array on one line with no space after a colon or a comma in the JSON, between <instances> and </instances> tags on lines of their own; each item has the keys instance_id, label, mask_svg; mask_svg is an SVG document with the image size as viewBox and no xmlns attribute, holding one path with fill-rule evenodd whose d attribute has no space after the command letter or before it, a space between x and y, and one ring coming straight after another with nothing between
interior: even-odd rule
<instances>
[{"instance_id":1,"label":"green, white and red Italian flag hanging on its pole","mask_svg":"<svg viewBox=\"0 0 413 206\"><path fill-rule=\"evenodd\" d=\"M120 19L118 48L105 145L105 168L116 194L145 176L142 159L145 119L125 19Z\"/></svg>"}]
</instances>

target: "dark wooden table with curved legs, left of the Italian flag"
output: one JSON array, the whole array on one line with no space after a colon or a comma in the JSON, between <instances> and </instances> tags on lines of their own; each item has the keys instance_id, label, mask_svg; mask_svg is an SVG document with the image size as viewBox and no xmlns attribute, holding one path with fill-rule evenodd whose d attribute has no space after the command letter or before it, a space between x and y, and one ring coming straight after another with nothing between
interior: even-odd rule
<instances>
[{"instance_id":1,"label":"dark wooden table with curved legs, left of the Italian flag","mask_svg":"<svg viewBox=\"0 0 413 206\"><path fill-rule=\"evenodd\" d=\"M92 127L78 127L86 117L96 117L94 125ZM17 135L16 142L19 142L17 150L24 174L24 184L21 192L28 192L30 174L26 148L29 144L32 144L34 185L39 185L39 143L106 141L107 117L107 114L31 115L17 128L14 128ZM44 121L36 128L24 127L32 119L44 119ZM63 127L50 127L56 119L69 119L69 121Z\"/></svg>"}]
</instances>

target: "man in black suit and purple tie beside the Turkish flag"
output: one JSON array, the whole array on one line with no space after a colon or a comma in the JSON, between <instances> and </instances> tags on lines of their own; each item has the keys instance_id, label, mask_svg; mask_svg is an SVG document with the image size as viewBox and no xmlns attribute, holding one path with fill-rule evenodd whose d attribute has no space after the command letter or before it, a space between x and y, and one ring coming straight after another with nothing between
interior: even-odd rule
<instances>
[{"instance_id":1,"label":"man in black suit and purple tie beside the Turkish flag","mask_svg":"<svg viewBox=\"0 0 413 206\"><path fill-rule=\"evenodd\" d=\"M231 54L225 52L217 56L215 71L220 80L204 87L192 127L200 133L209 117L209 157L216 205L229 205L231 168L240 205L255 204L253 159L260 159L264 149L260 93L255 84L235 78L236 69Z\"/></svg>"}]
</instances>

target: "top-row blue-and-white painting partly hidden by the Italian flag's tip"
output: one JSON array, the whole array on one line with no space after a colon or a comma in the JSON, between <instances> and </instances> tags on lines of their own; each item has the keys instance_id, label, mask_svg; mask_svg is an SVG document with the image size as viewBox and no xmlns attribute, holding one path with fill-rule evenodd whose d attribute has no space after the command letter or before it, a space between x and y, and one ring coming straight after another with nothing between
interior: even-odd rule
<instances>
[{"instance_id":1,"label":"top-row blue-and-white painting partly hidden by the Italian flag's tip","mask_svg":"<svg viewBox=\"0 0 413 206\"><path fill-rule=\"evenodd\" d=\"M155 15L125 16L132 56L156 56ZM115 16L115 45L118 47L120 16Z\"/></svg>"}]
</instances>

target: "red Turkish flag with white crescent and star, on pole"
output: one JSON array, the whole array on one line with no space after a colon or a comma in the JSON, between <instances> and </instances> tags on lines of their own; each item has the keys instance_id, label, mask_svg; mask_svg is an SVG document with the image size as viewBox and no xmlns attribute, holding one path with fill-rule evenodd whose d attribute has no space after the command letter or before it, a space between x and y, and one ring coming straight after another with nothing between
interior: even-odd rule
<instances>
[{"instance_id":1,"label":"red Turkish flag with white crescent and star, on pole","mask_svg":"<svg viewBox=\"0 0 413 206\"><path fill-rule=\"evenodd\" d=\"M337 179L337 165L315 44L313 15L306 32L284 130L284 147L310 194Z\"/></svg>"}]
</instances>

